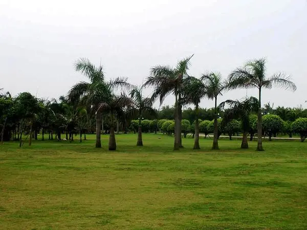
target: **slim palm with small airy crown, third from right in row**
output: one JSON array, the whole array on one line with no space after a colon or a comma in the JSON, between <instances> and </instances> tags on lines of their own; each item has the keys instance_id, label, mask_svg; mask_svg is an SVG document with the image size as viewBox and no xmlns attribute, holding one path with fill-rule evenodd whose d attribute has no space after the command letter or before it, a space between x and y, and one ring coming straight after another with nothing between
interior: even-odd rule
<instances>
[{"instance_id":1,"label":"slim palm with small airy crown, third from right in row","mask_svg":"<svg viewBox=\"0 0 307 230\"><path fill-rule=\"evenodd\" d=\"M206 87L207 97L214 100L214 131L213 131L213 145L212 149L218 149L218 127L217 127L217 97L222 95L222 91L226 89L226 81L222 79L220 73L207 73L201 77L203 84Z\"/></svg>"}]
</instances>

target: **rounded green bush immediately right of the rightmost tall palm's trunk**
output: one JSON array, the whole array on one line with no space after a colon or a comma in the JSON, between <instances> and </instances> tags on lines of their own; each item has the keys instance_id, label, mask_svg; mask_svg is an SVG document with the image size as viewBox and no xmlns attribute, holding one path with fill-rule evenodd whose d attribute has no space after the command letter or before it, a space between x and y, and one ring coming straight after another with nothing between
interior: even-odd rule
<instances>
[{"instance_id":1,"label":"rounded green bush immediately right of the rightmost tall palm's trunk","mask_svg":"<svg viewBox=\"0 0 307 230\"><path fill-rule=\"evenodd\" d=\"M276 133L281 131L283 127L282 119L273 114L267 114L262 117L262 128L265 133L269 136L269 140L271 141L272 135L276 136Z\"/></svg>"}]
</instances>

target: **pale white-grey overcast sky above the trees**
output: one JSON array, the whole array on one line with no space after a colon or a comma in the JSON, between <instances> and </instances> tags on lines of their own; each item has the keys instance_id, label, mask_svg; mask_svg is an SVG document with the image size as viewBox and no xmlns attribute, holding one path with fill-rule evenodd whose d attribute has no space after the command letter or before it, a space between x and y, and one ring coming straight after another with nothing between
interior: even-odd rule
<instances>
[{"instance_id":1,"label":"pale white-grey overcast sky above the trees","mask_svg":"<svg viewBox=\"0 0 307 230\"><path fill-rule=\"evenodd\" d=\"M306 5L306 0L1 0L0 88L58 98L86 80L74 71L80 57L101 61L107 78L124 76L133 84L141 84L150 67L175 65L191 54L191 75L219 71L225 78L246 60L266 57L268 76L287 73L298 89L265 90L263 104L306 107ZM232 90L219 101L255 92Z\"/></svg>"}]
</instances>

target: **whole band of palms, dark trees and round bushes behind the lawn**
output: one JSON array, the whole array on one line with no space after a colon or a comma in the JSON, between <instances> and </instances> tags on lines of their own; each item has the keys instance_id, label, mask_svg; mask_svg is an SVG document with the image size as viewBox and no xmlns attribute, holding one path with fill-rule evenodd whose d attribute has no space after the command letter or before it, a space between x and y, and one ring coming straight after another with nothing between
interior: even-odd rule
<instances>
[{"instance_id":1,"label":"whole band of palms, dark trees and round bushes behind the lawn","mask_svg":"<svg viewBox=\"0 0 307 230\"><path fill-rule=\"evenodd\" d=\"M3 139L13 136L22 145L22 137L27 134L31 144L32 137L37 138L37 133L41 131L42 136L48 133L52 139L55 134L58 140L61 140L62 133L66 133L66 139L71 141L73 135L79 133L82 141L82 133L96 132L96 147L99 148L101 130L106 130L110 133L108 148L115 150L115 129L138 132L138 146L143 145L142 132L162 130L168 134L174 133L173 148L178 150L183 147L182 133L186 136L192 132L193 148L200 149L199 133L213 132L212 149L218 149L221 133L231 136L242 131L242 147L247 148L247 135L250 133L254 136L257 131L259 151L263 150L263 132L271 138L281 130L287 133L296 131L304 140L307 130L304 126L306 118L303 118L307 114L305 110L273 109L269 104L261 108L262 89L273 86L296 89L290 78L282 74L267 78L265 59L248 61L231 72L227 79L223 79L220 73L213 72L205 73L200 78L190 76L188 70L191 58L180 60L174 67L152 67L150 76L141 86L129 84L127 78L106 80L101 65L95 66L88 59L79 59L75 63L75 70L86 76L89 82L78 82L59 102L37 99L29 93L21 93L16 98L9 94L1 96ZM143 87L148 86L153 87L153 92L151 97L146 98L142 91ZM217 104L217 97L227 90L253 87L258 88L258 98L227 100ZM124 93L127 91L128 94ZM162 104L170 94L175 98L173 107L163 107L159 111L152 108L156 100ZM200 108L203 99L213 100L214 107ZM183 110L188 105L194 108Z\"/></svg>"}]
</instances>

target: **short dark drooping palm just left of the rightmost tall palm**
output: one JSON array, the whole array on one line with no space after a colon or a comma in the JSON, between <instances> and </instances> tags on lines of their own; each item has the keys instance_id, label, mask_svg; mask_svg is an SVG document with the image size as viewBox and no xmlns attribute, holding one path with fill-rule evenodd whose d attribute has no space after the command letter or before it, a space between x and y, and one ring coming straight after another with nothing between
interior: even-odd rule
<instances>
[{"instance_id":1,"label":"short dark drooping palm just left of the rightmost tall palm","mask_svg":"<svg viewBox=\"0 0 307 230\"><path fill-rule=\"evenodd\" d=\"M227 124L233 119L240 119L242 121L242 128L243 128L243 139L241 148L247 149L248 148L248 140L247 134L250 130L250 114L252 112L258 111L258 100L257 98L250 97L246 98L244 101L240 102L238 100L226 100L222 102L218 107L220 109L224 109L225 105L228 104L230 106L224 113L223 123Z\"/></svg>"}]
</instances>

